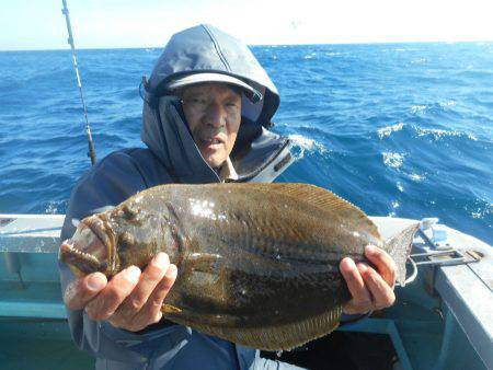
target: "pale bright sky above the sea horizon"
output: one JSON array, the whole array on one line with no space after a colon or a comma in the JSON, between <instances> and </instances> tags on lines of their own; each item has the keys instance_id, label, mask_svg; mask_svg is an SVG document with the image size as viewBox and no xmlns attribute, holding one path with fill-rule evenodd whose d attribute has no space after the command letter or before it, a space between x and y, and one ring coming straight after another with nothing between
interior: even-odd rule
<instances>
[{"instance_id":1,"label":"pale bright sky above the sea horizon","mask_svg":"<svg viewBox=\"0 0 493 370\"><path fill-rule=\"evenodd\" d=\"M77 48L162 47L213 24L250 45L493 42L493 0L67 0ZM0 50L68 48L61 0L0 0Z\"/></svg>"}]
</instances>

